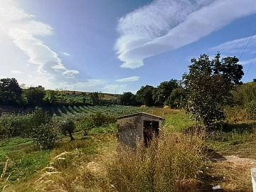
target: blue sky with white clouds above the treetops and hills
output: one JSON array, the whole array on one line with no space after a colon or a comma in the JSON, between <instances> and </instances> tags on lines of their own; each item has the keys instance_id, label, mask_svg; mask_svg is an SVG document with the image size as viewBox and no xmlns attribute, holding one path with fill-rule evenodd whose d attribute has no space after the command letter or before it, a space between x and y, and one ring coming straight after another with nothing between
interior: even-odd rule
<instances>
[{"instance_id":1,"label":"blue sky with white clouds above the treetops and hills","mask_svg":"<svg viewBox=\"0 0 256 192\"><path fill-rule=\"evenodd\" d=\"M256 78L255 0L0 1L0 78L26 87L137 92L218 52Z\"/></svg>"}]
</instances>

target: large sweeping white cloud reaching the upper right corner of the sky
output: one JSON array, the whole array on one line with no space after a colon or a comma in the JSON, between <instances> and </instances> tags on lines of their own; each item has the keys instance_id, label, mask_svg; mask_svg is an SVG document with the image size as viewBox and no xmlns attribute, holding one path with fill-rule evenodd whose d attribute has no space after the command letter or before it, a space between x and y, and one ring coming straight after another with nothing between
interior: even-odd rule
<instances>
[{"instance_id":1,"label":"large sweeping white cloud reaching the upper right corner of the sky","mask_svg":"<svg viewBox=\"0 0 256 192\"><path fill-rule=\"evenodd\" d=\"M119 20L115 49L122 68L139 68L144 58L186 46L255 13L255 0L156 0Z\"/></svg>"}]
</instances>

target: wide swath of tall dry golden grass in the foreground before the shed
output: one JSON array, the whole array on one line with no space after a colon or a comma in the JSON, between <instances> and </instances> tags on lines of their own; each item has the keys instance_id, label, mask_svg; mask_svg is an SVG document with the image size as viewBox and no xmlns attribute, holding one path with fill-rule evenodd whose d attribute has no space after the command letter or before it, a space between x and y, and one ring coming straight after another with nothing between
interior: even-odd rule
<instances>
[{"instance_id":1,"label":"wide swath of tall dry golden grass in the foreground before the shed","mask_svg":"<svg viewBox=\"0 0 256 192\"><path fill-rule=\"evenodd\" d=\"M200 138L161 134L149 147L119 146L109 137L100 155L80 150L54 156L26 191L198 191L205 189L206 156Z\"/></svg>"}]
</instances>

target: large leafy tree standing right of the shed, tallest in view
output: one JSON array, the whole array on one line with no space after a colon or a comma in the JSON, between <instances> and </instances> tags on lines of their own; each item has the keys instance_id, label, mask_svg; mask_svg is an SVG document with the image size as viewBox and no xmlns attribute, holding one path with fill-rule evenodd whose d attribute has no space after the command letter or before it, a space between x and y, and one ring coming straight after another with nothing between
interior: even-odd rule
<instances>
[{"instance_id":1,"label":"large leafy tree standing right of the shed, tallest in view","mask_svg":"<svg viewBox=\"0 0 256 192\"><path fill-rule=\"evenodd\" d=\"M187 92L186 111L197 121L211 127L225 119L223 107L228 102L230 91L241 84L242 65L238 58L220 59L220 53L210 60L208 55L191 59L189 73L183 75Z\"/></svg>"}]
</instances>

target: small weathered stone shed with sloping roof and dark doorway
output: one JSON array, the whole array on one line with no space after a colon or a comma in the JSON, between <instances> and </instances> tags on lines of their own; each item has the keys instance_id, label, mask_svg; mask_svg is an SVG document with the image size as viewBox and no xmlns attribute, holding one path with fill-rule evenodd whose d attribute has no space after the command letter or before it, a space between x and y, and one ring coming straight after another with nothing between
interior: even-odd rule
<instances>
[{"instance_id":1,"label":"small weathered stone shed with sloping roof and dark doorway","mask_svg":"<svg viewBox=\"0 0 256 192\"><path fill-rule=\"evenodd\" d=\"M119 142L130 147L135 147L137 141L146 145L159 134L159 128L164 124L164 118L153 114L139 112L117 118Z\"/></svg>"}]
</instances>

